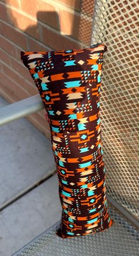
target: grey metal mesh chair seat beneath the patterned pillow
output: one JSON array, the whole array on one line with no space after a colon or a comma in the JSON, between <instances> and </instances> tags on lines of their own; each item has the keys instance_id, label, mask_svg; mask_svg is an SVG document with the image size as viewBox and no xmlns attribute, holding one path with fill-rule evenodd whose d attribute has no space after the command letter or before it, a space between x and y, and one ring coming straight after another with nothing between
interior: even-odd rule
<instances>
[{"instance_id":1,"label":"grey metal mesh chair seat beneath the patterned pillow","mask_svg":"<svg viewBox=\"0 0 139 256\"><path fill-rule=\"evenodd\" d=\"M138 255L138 232L124 216L109 207L115 225L105 232L59 238L55 231L59 222L43 232L12 256L136 256Z\"/></svg>"}]
</instances>

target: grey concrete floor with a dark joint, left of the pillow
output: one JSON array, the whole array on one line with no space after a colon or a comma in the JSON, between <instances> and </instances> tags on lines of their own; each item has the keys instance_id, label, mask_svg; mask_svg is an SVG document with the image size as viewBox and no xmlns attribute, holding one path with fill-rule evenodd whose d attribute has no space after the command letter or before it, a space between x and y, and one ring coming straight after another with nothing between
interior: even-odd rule
<instances>
[{"instance_id":1,"label":"grey concrete floor with a dark joint, left of the pillow","mask_svg":"<svg viewBox=\"0 0 139 256\"><path fill-rule=\"evenodd\" d=\"M0 108L7 104L0 97ZM0 144L0 255L10 256L59 221L62 209L57 174L47 178L56 168L47 137L21 118L0 127Z\"/></svg>"}]
</instances>

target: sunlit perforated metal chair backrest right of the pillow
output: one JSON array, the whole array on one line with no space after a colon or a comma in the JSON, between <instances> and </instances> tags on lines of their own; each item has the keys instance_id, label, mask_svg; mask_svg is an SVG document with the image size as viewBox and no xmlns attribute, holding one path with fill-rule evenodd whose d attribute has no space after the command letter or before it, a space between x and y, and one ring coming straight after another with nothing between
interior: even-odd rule
<instances>
[{"instance_id":1,"label":"sunlit perforated metal chair backrest right of the pillow","mask_svg":"<svg viewBox=\"0 0 139 256\"><path fill-rule=\"evenodd\" d=\"M137 218L137 1L95 1L91 44L105 43L100 96L107 193Z\"/></svg>"}]
</instances>

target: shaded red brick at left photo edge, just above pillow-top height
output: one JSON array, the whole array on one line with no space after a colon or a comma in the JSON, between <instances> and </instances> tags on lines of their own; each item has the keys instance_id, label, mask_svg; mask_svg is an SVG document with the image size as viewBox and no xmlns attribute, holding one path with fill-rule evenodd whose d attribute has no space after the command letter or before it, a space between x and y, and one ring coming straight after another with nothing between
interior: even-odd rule
<instances>
[{"instance_id":1,"label":"shaded red brick at left photo edge, just above pillow-top height","mask_svg":"<svg viewBox=\"0 0 139 256\"><path fill-rule=\"evenodd\" d=\"M11 25L5 24L4 22L1 22L0 24L1 34L3 37L8 38L9 41L12 41L21 48L28 50L27 35L16 30L14 27L11 27Z\"/></svg>"}]
</instances>

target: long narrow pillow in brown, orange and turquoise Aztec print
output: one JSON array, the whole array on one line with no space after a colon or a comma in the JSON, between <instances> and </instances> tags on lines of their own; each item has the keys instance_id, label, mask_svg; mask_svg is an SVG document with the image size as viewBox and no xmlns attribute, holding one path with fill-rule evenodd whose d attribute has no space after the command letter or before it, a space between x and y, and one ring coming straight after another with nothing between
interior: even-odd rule
<instances>
[{"instance_id":1,"label":"long narrow pillow in brown, orange and turquoise Aztec print","mask_svg":"<svg viewBox=\"0 0 139 256\"><path fill-rule=\"evenodd\" d=\"M62 238L104 231L111 219L100 128L104 44L21 52L47 111L62 206Z\"/></svg>"}]
</instances>

